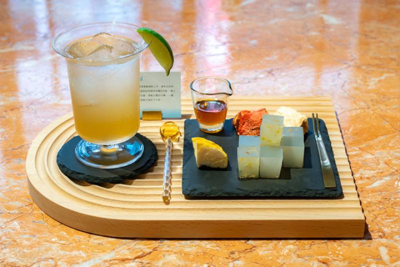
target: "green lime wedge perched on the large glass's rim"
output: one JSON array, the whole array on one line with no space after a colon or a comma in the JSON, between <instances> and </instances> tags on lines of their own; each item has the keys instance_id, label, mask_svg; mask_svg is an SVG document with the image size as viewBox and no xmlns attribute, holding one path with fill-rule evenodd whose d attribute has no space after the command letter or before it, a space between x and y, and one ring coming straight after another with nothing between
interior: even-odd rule
<instances>
[{"instance_id":1,"label":"green lime wedge perched on the large glass's rim","mask_svg":"<svg viewBox=\"0 0 400 267\"><path fill-rule=\"evenodd\" d=\"M150 44L148 48L168 76L173 65L173 54L168 42L159 33L151 29L139 28L136 31L144 42Z\"/></svg>"}]
</instances>

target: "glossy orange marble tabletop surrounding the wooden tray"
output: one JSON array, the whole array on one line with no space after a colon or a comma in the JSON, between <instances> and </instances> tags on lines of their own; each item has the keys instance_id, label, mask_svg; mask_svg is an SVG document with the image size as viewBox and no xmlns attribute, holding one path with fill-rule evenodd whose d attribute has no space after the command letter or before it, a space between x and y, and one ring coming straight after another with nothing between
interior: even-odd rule
<instances>
[{"instance_id":1,"label":"glossy orange marble tabletop surrounding the wooden tray","mask_svg":"<svg viewBox=\"0 0 400 267\"><path fill-rule=\"evenodd\" d=\"M0 0L0 265L400 264L400 4L395 1ZM182 94L221 75L235 94L330 95L368 224L362 240L146 240L83 233L32 203L30 142L71 110L64 60L73 26L122 21L162 33ZM146 52L144 71L160 71Z\"/></svg>"}]
</instances>

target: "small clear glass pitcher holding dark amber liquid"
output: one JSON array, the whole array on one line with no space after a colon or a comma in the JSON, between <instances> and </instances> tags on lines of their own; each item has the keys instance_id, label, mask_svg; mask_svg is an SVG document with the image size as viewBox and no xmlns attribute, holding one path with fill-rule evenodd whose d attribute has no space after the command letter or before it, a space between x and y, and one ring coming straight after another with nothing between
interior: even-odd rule
<instances>
[{"instance_id":1,"label":"small clear glass pitcher holding dark amber liquid","mask_svg":"<svg viewBox=\"0 0 400 267\"><path fill-rule=\"evenodd\" d=\"M230 82L220 77L201 77L190 83L191 100L200 130L217 133L223 129L232 95Z\"/></svg>"}]
</instances>

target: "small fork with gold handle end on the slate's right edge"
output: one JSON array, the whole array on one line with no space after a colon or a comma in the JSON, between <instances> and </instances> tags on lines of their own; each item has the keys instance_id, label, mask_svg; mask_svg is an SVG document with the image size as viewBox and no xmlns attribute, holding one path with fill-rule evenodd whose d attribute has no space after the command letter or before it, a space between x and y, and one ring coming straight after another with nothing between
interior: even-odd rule
<instances>
[{"instance_id":1,"label":"small fork with gold handle end on the slate's right edge","mask_svg":"<svg viewBox=\"0 0 400 267\"><path fill-rule=\"evenodd\" d=\"M319 129L318 113L315 115L316 119L314 113L312 113L312 128L314 129L316 147L318 148L319 159L321 162L323 185L325 188L333 188L336 187L336 182L334 180L332 165L330 164L325 145L323 144L321 131Z\"/></svg>"}]
</instances>

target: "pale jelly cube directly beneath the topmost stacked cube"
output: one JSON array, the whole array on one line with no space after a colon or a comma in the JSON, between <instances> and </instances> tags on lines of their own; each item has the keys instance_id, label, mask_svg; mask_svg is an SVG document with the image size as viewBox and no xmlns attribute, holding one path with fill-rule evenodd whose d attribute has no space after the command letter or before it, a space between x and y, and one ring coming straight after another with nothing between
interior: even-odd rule
<instances>
[{"instance_id":1,"label":"pale jelly cube directly beneath the topmost stacked cube","mask_svg":"<svg viewBox=\"0 0 400 267\"><path fill-rule=\"evenodd\" d=\"M279 178L282 168L283 149L281 146L261 146L259 156L259 177Z\"/></svg>"}]
</instances>

